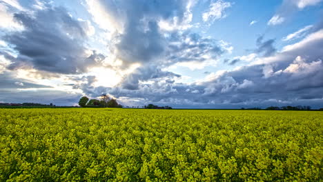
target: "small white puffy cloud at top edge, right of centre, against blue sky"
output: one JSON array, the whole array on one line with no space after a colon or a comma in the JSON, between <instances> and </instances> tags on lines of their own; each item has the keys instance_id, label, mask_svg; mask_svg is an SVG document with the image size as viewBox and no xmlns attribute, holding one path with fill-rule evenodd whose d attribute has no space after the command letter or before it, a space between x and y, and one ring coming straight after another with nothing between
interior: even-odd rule
<instances>
[{"instance_id":1,"label":"small white puffy cloud at top edge, right of centre, against blue sky","mask_svg":"<svg viewBox=\"0 0 323 182\"><path fill-rule=\"evenodd\" d=\"M212 23L216 19L222 19L226 17L226 14L224 14L224 10L230 7L231 7L230 2L226 2L222 0L212 2L210 4L210 9L202 14L203 21L204 22L211 21Z\"/></svg>"}]
</instances>

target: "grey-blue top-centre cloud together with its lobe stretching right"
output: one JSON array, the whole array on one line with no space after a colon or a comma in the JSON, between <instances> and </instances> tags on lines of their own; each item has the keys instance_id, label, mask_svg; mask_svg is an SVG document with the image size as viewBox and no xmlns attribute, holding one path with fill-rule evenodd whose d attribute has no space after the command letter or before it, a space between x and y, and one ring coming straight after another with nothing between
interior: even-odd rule
<instances>
[{"instance_id":1,"label":"grey-blue top-centre cloud together with its lobe stretching right","mask_svg":"<svg viewBox=\"0 0 323 182\"><path fill-rule=\"evenodd\" d=\"M113 49L117 57L129 63L176 63L178 61L204 61L222 54L214 39L179 30L165 31L159 21L180 25L187 21L189 1L100 1L106 12L121 25L123 32L115 36ZM185 42L185 40L190 42Z\"/></svg>"}]
</instances>

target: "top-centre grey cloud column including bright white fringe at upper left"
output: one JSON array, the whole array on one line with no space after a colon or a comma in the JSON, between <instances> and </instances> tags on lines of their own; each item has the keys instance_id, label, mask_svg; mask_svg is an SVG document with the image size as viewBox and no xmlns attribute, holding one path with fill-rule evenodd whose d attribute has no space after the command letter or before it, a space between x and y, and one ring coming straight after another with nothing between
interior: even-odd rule
<instances>
[{"instance_id":1,"label":"top-centre grey cloud column including bright white fringe at upper left","mask_svg":"<svg viewBox=\"0 0 323 182\"><path fill-rule=\"evenodd\" d=\"M87 2L88 5L99 6L98 12L101 15L97 15L96 10L89 9L93 17L106 17L100 18L101 27L115 27L115 30L109 30L115 32L111 36L109 48L115 59L123 62L124 67L133 63L155 62L163 58L169 39L165 34L168 30L161 26L188 26L191 19L190 8L193 6L193 1L184 0Z\"/></svg>"}]
</instances>

